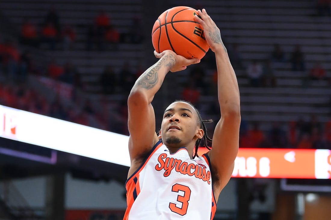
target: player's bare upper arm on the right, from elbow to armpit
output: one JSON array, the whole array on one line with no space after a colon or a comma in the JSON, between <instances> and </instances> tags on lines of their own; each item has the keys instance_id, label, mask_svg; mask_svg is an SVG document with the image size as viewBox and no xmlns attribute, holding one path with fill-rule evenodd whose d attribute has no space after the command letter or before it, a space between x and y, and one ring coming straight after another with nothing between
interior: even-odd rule
<instances>
[{"instance_id":1,"label":"player's bare upper arm on the right, from elbow to armpit","mask_svg":"<svg viewBox=\"0 0 331 220\"><path fill-rule=\"evenodd\" d=\"M240 115L222 116L213 135L210 160L216 167L222 189L229 181L239 149Z\"/></svg>"}]
</instances>

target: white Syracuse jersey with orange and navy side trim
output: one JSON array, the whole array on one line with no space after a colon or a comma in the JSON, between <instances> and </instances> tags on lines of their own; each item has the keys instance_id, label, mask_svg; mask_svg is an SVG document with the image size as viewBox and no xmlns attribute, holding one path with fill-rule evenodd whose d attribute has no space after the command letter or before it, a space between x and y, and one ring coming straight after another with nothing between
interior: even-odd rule
<instances>
[{"instance_id":1,"label":"white Syracuse jersey with orange and navy side trim","mask_svg":"<svg viewBox=\"0 0 331 220\"><path fill-rule=\"evenodd\" d=\"M170 154L159 141L125 187L124 220L209 220L216 211L209 157L190 159L184 147Z\"/></svg>"}]
</instances>

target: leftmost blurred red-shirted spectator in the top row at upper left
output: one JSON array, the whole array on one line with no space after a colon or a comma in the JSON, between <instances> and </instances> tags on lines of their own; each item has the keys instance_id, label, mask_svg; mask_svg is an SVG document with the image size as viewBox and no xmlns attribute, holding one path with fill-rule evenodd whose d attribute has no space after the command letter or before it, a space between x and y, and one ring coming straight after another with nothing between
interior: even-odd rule
<instances>
[{"instance_id":1,"label":"leftmost blurred red-shirted spectator in the top row at upper left","mask_svg":"<svg viewBox=\"0 0 331 220\"><path fill-rule=\"evenodd\" d=\"M21 31L21 42L26 45L38 47L39 37L37 26L30 20L24 20Z\"/></svg>"}]
</instances>

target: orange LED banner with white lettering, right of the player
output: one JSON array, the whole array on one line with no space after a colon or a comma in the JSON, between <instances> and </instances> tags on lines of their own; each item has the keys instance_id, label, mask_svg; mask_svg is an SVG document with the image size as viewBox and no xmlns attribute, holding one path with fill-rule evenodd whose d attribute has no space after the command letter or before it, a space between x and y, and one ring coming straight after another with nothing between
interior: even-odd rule
<instances>
[{"instance_id":1,"label":"orange LED banner with white lettering, right of the player","mask_svg":"<svg viewBox=\"0 0 331 220\"><path fill-rule=\"evenodd\" d=\"M330 179L331 151L240 148L232 177Z\"/></svg>"}]
</instances>

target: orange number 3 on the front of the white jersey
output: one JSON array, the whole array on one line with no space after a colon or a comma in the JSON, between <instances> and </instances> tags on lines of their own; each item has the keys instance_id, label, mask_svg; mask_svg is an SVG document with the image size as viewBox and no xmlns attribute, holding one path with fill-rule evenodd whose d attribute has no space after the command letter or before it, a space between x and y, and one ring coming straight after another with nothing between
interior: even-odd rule
<instances>
[{"instance_id":1,"label":"orange number 3 on the front of the white jersey","mask_svg":"<svg viewBox=\"0 0 331 220\"><path fill-rule=\"evenodd\" d=\"M175 203L169 202L169 208L171 211L173 211L179 215L185 215L187 212L188 201L190 200L190 196L191 196L190 188L176 183L175 185L172 186L171 191L176 192L176 193L179 193L179 191L184 192L183 196L181 196L181 195L177 196L177 201L182 203L182 207L179 208L176 206Z\"/></svg>"}]
</instances>

